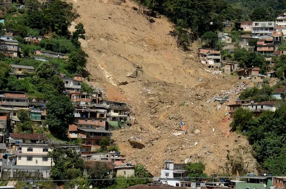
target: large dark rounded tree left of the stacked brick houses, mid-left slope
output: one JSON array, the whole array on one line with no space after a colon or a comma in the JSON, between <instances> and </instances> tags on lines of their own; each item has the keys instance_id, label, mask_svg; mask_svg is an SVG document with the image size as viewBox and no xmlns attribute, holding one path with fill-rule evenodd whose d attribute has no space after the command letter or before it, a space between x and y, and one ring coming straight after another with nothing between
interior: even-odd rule
<instances>
[{"instance_id":1,"label":"large dark rounded tree left of the stacked brick houses, mid-left slope","mask_svg":"<svg viewBox=\"0 0 286 189\"><path fill-rule=\"evenodd\" d=\"M74 106L66 96L54 96L46 105L47 124L52 134L61 136L74 122Z\"/></svg>"}]
</instances>

